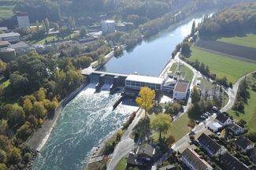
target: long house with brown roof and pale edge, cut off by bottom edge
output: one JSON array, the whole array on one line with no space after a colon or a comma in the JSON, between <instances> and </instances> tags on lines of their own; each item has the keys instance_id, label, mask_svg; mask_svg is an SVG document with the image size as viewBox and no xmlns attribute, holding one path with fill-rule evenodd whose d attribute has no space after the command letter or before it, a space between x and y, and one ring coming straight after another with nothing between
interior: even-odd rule
<instances>
[{"instance_id":1,"label":"long house with brown roof and pale edge, cut off by bottom edge","mask_svg":"<svg viewBox=\"0 0 256 170\"><path fill-rule=\"evenodd\" d=\"M187 148L184 150L182 155L182 161L191 170L212 170L213 167L210 166L206 161L202 160L198 153L194 150Z\"/></svg>"}]
</instances>

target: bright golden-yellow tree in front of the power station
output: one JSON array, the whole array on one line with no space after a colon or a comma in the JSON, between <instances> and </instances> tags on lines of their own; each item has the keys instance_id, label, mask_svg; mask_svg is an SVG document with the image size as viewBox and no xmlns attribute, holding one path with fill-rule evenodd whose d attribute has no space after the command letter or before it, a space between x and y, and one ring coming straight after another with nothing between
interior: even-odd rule
<instances>
[{"instance_id":1,"label":"bright golden-yellow tree in front of the power station","mask_svg":"<svg viewBox=\"0 0 256 170\"><path fill-rule=\"evenodd\" d=\"M139 97L135 99L137 105L145 109L145 117L147 116L147 112L153 107L154 98L154 90L151 90L149 87L142 87L139 91Z\"/></svg>"}]
</instances>

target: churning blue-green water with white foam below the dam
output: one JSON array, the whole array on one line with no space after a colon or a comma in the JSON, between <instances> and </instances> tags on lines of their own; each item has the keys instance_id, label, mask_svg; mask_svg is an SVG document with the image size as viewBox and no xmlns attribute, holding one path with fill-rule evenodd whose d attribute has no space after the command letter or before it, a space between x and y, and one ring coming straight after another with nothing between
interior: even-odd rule
<instances>
[{"instance_id":1,"label":"churning blue-green water with white foam below the dam","mask_svg":"<svg viewBox=\"0 0 256 170\"><path fill-rule=\"evenodd\" d=\"M137 109L119 105L112 111L120 94L110 95L109 91L95 94L94 86L89 84L65 106L33 169L81 169L87 163L91 149L121 127L129 114Z\"/></svg>"}]
</instances>

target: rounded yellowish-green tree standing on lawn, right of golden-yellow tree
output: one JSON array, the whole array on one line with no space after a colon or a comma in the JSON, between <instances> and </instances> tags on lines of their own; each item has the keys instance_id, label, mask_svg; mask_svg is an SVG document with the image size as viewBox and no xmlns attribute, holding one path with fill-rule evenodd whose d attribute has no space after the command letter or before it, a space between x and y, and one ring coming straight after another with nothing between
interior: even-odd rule
<instances>
[{"instance_id":1,"label":"rounded yellowish-green tree standing on lawn, right of golden-yellow tree","mask_svg":"<svg viewBox=\"0 0 256 170\"><path fill-rule=\"evenodd\" d=\"M166 133L169 127L172 126L172 118L168 114L159 113L150 120L151 127L159 132L159 139L161 139L161 134Z\"/></svg>"}]
</instances>

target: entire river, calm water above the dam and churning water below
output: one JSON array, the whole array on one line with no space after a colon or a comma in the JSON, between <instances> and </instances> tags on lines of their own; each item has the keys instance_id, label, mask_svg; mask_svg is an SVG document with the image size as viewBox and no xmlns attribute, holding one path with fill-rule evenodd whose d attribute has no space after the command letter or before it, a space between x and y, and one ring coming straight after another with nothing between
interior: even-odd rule
<instances>
[{"instance_id":1,"label":"entire river, calm water above the dam and churning water below","mask_svg":"<svg viewBox=\"0 0 256 170\"><path fill-rule=\"evenodd\" d=\"M190 33L193 20L200 22L201 18L202 15L190 18L162 31L143 41L132 52L124 51L123 56L113 57L104 69L108 72L139 72L140 75L158 76L176 44ZM95 94L94 87L95 84L89 84L65 106L33 169L83 168L91 149L121 127L129 114L137 109L135 106L119 105L112 111L113 103L120 98L120 94L110 95L109 91Z\"/></svg>"}]
</instances>

